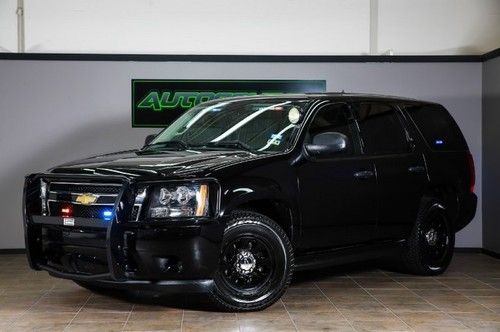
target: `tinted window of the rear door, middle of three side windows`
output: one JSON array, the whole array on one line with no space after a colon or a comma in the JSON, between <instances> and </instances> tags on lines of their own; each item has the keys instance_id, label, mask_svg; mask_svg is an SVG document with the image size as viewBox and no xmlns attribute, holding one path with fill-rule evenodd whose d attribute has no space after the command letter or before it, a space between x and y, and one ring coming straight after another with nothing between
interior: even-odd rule
<instances>
[{"instance_id":1,"label":"tinted window of the rear door, middle of three side windows","mask_svg":"<svg viewBox=\"0 0 500 332\"><path fill-rule=\"evenodd\" d=\"M409 149L396 110L383 103L360 103L357 121L365 153L401 153Z\"/></svg>"}]
</instances>

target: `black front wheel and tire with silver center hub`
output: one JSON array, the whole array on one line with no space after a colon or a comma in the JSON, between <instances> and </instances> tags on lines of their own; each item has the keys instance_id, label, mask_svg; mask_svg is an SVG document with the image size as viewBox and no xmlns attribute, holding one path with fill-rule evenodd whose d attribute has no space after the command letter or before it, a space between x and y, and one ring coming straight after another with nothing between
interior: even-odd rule
<instances>
[{"instance_id":1,"label":"black front wheel and tire with silver center hub","mask_svg":"<svg viewBox=\"0 0 500 332\"><path fill-rule=\"evenodd\" d=\"M277 223L235 212L224 231L212 300L225 311L264 309L283 295L293 269L292 245Z\"/></svg>"}]
</instances>

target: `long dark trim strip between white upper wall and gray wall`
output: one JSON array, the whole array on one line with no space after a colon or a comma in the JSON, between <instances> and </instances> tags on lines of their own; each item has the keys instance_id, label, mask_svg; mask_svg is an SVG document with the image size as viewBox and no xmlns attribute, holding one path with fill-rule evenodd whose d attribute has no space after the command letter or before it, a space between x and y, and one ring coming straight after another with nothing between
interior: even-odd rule
<instances>
[{"instance_id":1,"label":"long dark trim strip between white upper wall and gray wall","mask_svg":"<svg viewBox=\"0 0 500 332\"><path fill-rule=\"evenodd\" d=\"M137 61L137 62L483 62L500 55L500 48L484 55L230 55L230 54L85 54L0 53L0 60Z\"/></svg>"}]
</instances>

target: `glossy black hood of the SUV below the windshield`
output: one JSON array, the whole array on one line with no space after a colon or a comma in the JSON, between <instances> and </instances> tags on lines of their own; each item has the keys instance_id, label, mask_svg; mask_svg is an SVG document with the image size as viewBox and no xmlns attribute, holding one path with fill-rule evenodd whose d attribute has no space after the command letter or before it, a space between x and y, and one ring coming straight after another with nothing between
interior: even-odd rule
<instances>
[{"instance_id":1,"label":"glossy black hood of the SUV below the windshield","mask_svg":"<svg viewBox=\"0 0 500 332\"><path fill-rule=\"evenodd\" d=\"M124 175L137 177L210 176L216 169L257 157L246 151L162 151L140 150L99 155L59 165L52 173Z\"/></svg>"}]
</instances>

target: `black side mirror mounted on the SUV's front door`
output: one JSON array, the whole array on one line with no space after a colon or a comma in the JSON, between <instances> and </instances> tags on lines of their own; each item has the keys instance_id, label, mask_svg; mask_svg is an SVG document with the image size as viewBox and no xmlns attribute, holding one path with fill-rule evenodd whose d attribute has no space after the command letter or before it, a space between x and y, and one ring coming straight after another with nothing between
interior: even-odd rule
<instances>
[{"instance_id":1,"label":"black side mirror mounted on the SUV's front door","mask_svg":"<svg viewBox=\"0 0 500 332\"><path fill-rule=\"evenodd\" d=\"M312 144L306 144L305 150L314 158L329 158L347 151L349 138L339 132L325 132L314 136Z\"/></svg>"}]
</instances>

